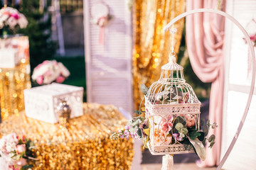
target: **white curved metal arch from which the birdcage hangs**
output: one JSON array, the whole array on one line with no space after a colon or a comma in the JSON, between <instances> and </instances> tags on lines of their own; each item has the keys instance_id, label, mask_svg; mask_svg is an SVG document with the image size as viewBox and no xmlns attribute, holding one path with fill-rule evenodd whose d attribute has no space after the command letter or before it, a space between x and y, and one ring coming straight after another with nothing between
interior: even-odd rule
<instances>
[{"instance_id":1,"label":"white curved metal arch from which the birdcage hangs","mask_svg":"<svg viewBox=\"0 0 256 170\"><path fill-rule=\"evenodd\" d=\"M247 117L247 113L248 113L249 108L250 108L250 103L252 101L253 90L254 90L254 87L255 87L255 74L256 74L255 73L255 51L254 51L254 48L252 46L252 42L250 40L250 36L246 32L245 28L243 28L241 26L241 24L235 18L233 18L233 16L230 16L228 13L225 13L223 11L215 10L215 9L212 9L212 8L198 8L198 9L194 9L194 10L182 13L181 15L176 16L163 29L164 29L164 31L169 30L169 28L172 25L174 25L174 23L176 23L176 21L178 21L179 19L181 19L181 18L183 18L185 16L191 15L193 13L204 13L204 12L218 13L221 16L225 16L226 18L230 19L230 21L235 23L235 25L238 26L238 28L240 28L240 30L242 30L242 33L245 35L245 39L247 40L248 45L249 45L249 49L250 49L250 57L252 57L252 81L251 81L251 85L250 85L249 96L247 98L247 104L245 106L245 111L244 111L244 113L242 115L242 118L240 120L240 124L238 126L238 130L235 132L235 136L233 137L233 140L230 143L230 146L228 147L227 152L225 153L223 159L220 161L220 164L217 167L217 170L220 170L222 168L223 164L225 163L225 161L228 159L228 156L229 156L230 152L232 151L232 149L233 149L233 147L235 145L235 142L238 140L238 136L240 135L240 132L242 130L242 126L245 123L245 119Z\"/></svg>"}]
</instances>

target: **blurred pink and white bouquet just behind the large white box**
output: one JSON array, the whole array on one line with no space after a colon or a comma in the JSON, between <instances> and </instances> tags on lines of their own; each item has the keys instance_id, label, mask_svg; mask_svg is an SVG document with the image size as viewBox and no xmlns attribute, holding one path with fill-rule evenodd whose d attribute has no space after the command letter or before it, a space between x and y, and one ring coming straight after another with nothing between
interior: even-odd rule
<instances>
[{"instance_id":1,"label":"blurred pink and white bouquet just behind the large white box","mask_svg":"<svg viewBox=\"0 0 256 170\"><path fill-rule=\"evenodd\" d=\"M63 83L70 75L68 69L56 60L46 60L33 69L32 79L39 85L56 83Z\"/></svg>"}]
</instances>

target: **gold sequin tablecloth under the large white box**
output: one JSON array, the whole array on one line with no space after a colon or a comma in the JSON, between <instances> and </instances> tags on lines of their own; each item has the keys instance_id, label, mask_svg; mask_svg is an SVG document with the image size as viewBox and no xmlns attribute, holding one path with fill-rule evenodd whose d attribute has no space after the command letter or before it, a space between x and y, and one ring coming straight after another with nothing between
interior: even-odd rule
<instances>
[{"instance_id":1,"label":"gold sequin tablecloth under the large white box","mask_svg":"<svg viewBox=\"0 0 256 170\"><path fill-rule=\"evenodd\" d=\"M110 140L126 122L114 106L84 103L84 115L70 120L68 128L21 112L0 124L0 137L25 132L37 146L33 169L130 169L133 140Z\"/></svg>"}]
</instances>

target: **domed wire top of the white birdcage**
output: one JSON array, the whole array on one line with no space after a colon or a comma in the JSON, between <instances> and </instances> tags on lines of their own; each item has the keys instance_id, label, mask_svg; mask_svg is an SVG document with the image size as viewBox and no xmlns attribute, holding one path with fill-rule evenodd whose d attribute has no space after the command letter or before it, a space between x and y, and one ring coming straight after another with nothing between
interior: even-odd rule
<instances>
[{"instance_id":1,"label":"domed wire top of the white birdcage","mask_svg":"<svg viewBox=\"0 0 256 170\"><path fill-rule=\"evenodd\" d=\"M169 63L161 67L160 79L151 84L146 100L154 105L200 103L184 79L183 67L176 63L176 57L171 54Z\"/></svg>"}]
</instances>

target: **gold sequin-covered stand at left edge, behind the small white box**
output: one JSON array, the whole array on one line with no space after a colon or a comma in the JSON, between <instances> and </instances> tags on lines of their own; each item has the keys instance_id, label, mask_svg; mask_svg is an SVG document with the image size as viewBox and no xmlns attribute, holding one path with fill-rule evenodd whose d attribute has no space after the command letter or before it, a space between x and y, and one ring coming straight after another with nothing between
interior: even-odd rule
<instances>
[{"instance_id":1,"label":"gold sequin-covered stand at left edge, behind the small white box","mask_svg":"<svg viewBox=\"0 0 256 170\"><path fill-rule=\"evenodd\" d=\"M18 49L18 66L0 68L0 108L1 119L6 120L10 115L24 110L23 90L31 88L29 45L27 36L0 38L1 47Z\"/></svg>"}]
</instances>

